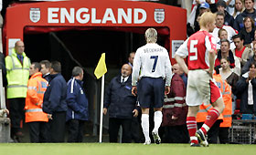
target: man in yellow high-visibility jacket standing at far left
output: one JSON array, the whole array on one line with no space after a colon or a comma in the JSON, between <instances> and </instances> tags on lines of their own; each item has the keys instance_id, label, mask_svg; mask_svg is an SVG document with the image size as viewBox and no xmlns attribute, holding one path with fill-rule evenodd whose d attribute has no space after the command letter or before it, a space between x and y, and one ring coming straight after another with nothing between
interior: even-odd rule
<instances>
[{"instance_id":1,"label":"man in yellow high-visibility jacket standing at far left","mask_svg":"<svg viewBox=\"0 0 256 155\"><path fill-rule=\"evenodd\" d=\"M23 136L20 122L24 118L30 67L30 60L24 50L24 43L19 40L16 42L12 53L5 57L6 78L8 81L7 98L10 103L10 119L12 123L11 137L17 141Z\"/></svg>"}]
</instances>

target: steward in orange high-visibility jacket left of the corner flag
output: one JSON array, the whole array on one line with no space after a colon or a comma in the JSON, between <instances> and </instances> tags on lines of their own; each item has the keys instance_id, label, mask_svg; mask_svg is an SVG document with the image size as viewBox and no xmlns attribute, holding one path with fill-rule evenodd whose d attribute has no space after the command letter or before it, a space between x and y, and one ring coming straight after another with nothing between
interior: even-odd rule
<instances>
[{"instance_id":1,"label":"steward in orange high-visibility jacket left of the corner flag","mask_svg":"<svg viewBox=\"0 0 256 155\"><path fill-rule=\"evenodd\" d=\"M39 72L41 66L35 62L29 67L29 78L27 83L27 98L25 106L25 121L29 127L31 142L48 141L48 114L43 112L42 103L44 93L48 87L46 79Z\"/></svg>"}]
</instances>

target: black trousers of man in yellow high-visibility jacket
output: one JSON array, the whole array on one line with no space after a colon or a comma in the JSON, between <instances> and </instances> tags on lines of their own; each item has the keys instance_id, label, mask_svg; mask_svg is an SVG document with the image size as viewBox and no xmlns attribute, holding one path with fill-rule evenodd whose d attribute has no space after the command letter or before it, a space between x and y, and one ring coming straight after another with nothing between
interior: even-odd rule
<instances>
[{"instance_id":1,"label":"black trousers of man in yellow high-visibility jacket","mask_svg":"<svg viewBox=\"0 0 256 155\"><path fill-rule=\"evenodd\" d=\"M10 98L10 119L11 119L11 134L12 137L16 132L21 131L21 121L25 118L25 98Z\"/></svg>"}]
</instances>

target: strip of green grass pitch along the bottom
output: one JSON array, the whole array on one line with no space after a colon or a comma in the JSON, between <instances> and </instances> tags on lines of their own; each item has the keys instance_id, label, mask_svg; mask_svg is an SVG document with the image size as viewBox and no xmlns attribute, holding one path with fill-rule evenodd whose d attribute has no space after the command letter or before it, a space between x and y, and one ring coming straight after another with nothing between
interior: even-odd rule
<instances>
[{"instance_id":1,"label":"strip of green grass pitch along the bottom","mask_svg":"<svg viewBox=\"0 0 256 155\"><path fill-rule=\"evenodd\" d=\"M0 151L1 155L254 155L256 145L191 148L189 144L9 143L0 144Z\"/></svg>"}]
</instances>

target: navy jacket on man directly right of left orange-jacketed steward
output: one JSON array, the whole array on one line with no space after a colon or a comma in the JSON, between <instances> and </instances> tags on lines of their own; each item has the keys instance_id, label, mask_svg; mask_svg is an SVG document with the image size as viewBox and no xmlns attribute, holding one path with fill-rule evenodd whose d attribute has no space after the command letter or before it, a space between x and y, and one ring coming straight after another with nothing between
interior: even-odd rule
<instances>
[{"instance_id":1,"label":"navy jacket on man directly right of left orange-jacketed steward","mask_svg":"<svg viewBox=\"0 0 256 155\"><path fill-rule=\"evenodd\" d=\"M67 111L67 83L61 74L50 76L52 80L44 95L43 111L48 114Z\"/></svg>"}]
</instances>

